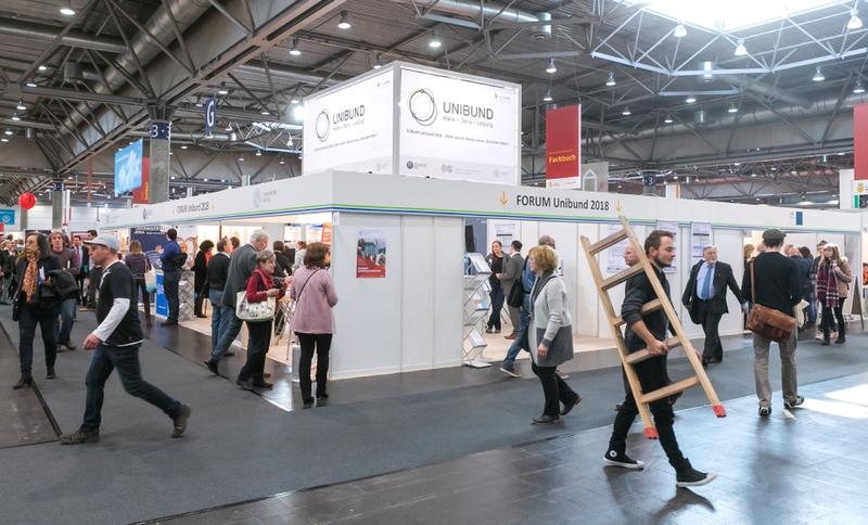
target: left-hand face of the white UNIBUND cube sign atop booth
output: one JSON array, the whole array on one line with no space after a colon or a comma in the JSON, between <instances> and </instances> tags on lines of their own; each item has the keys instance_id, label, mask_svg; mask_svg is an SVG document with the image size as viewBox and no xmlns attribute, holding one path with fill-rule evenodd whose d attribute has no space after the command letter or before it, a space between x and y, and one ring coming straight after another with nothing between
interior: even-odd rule
<instances>
[{"instance_id":1,"label":"left-hand face of the white UNIBUND cube sign atop booth","mask_svg":"<svg viewBox=\"0 0 868 525\"><path fill-rule=\"evenodd\" d=\"M302 174L393 172L392 71L305 100Z\"/></svg>"}]
</instances>

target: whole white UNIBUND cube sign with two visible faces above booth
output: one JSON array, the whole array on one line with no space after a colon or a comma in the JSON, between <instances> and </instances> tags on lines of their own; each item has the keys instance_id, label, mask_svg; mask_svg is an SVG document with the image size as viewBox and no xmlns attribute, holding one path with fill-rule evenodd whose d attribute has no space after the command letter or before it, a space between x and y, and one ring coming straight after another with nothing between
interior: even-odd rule
<instances>
[{"instance_id":1,"label":"whole white UNIBUND cube sign with two visible faces above booth","mask_svg":"<svg viewBox=\"0 0 868 525\"><path fill-rule=\"evenodd\" d=\"M396 62L305 100L302 170L518 184L520 128L520 86Z\"/></svg>"}]
</instances>

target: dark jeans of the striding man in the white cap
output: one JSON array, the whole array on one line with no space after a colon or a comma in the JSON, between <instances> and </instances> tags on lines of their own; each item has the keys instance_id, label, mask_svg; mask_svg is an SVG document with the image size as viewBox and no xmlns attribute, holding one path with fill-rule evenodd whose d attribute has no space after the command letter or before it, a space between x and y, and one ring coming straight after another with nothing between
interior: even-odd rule
<instances>
[{"instance_id":1,"label":"dark jeans of the striding man in the white cap","mask_svg":"<svg viewBox=\"0 0 868 525\"><path fill-rule=\"evenodd\" d=\"M175 418L181 409L181 404L173 399L165 392L142 379L142 368L139 363L139 345L136 346L105 346L100 345L93 350L90 358L90 368L85 384L88 387L85 405L85 421L81 430L93 432L99 430L102 417L102 401L105 397L105 381L117 369L120 384L130 396L141 398L163 410L169 418Z\"/></svg>"}]
</instances>

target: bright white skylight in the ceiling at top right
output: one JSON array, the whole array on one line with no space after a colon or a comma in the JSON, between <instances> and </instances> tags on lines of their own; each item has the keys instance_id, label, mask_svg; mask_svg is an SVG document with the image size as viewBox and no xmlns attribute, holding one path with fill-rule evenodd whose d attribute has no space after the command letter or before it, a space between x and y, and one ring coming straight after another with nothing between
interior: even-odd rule
<instances>
[{"instance_id":1,"label":"bright white skylight in the ceiling at top right","mask_svg":"<svg viewBox=\"0 0 868 525\"><path fill-rule=\"evenodd\" d=\"M777 22L787 15L792 16L841 3L839 0L729 0L727 2L698 0L617 1L627 5L641 4L647 11L666 16L681 24L702 27L715 34ZM685 30L685 34L686 33ZM676 37L678 36L675 33L674 35Z\"/></svg>"}]
</instances>

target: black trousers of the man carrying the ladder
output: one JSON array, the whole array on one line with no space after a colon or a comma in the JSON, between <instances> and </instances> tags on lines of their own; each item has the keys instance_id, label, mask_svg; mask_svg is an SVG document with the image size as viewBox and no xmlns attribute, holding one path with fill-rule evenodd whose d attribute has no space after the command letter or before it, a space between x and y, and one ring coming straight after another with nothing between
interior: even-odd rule
<instances>
[{"instance_id":1,"label":"black trousers of the man carrying the ladder","mask_svg":"<svg viewBox=\"0 0 868 525\"><path fill-rule=\"evenodd\" d=\"M666 371L666 356L656 356L636 363L634 370L636 370L636 374L639 376L642 392L655 390L672 383L668 372ZM626 377L626 374L624 375ZM668 398L663 398L652 402L650 408L654 417L658 435L660 436L660 445L666 452L669 464L678 470L684 464L685 457L678 448L678 439L676 439L675 430L673 428L675 412L673 411L672 404ZM636 399L633 397L633 392L627 390L624 404L617 411L617 415L615 415L612 437L609 439L610 450L615 450L618 453L624 453L626 451L627 434L629 434L630 426L638 413L639 410L636 408Z\"/></svg>"}]
</instances>

